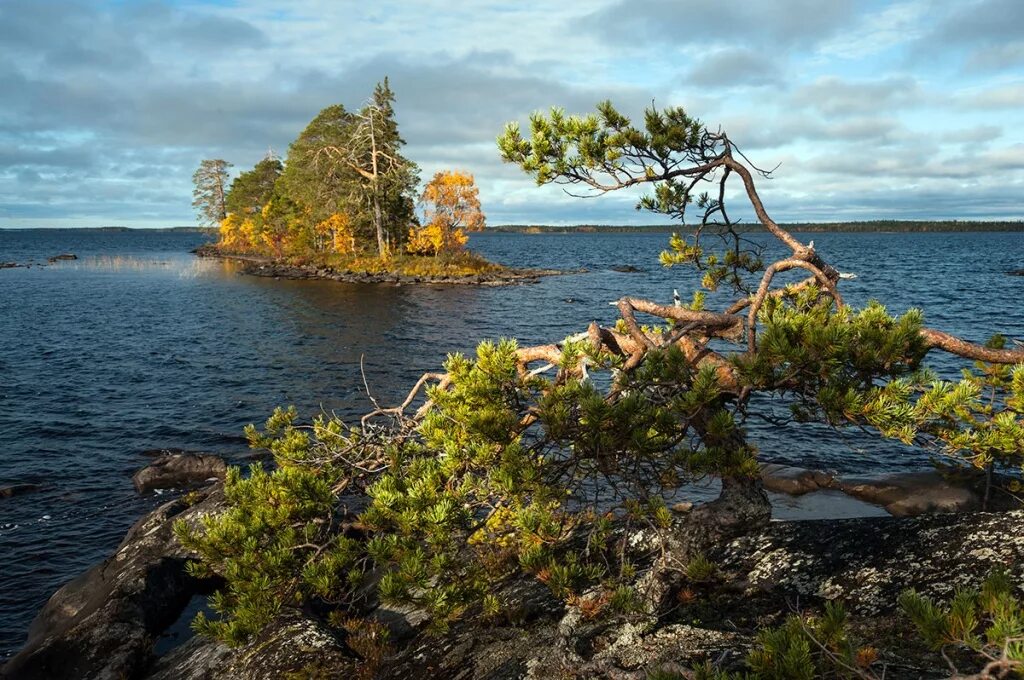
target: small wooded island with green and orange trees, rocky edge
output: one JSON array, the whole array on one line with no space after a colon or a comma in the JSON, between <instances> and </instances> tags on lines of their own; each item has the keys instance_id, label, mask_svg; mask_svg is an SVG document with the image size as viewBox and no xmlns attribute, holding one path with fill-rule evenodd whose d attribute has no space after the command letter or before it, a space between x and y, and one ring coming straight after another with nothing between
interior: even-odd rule
<instances>
[{"instance_id":1,"label":"small wooded island with green and orange trees, rocky edge","mask_svg":"<svg viewBox=\"0 0 1024 680\"><path fill-rule=\"evenodd\" d=\"M197 254L240 261L244 273L348 283L500 286L561 273L466 251L467 231L486 223L473 175L439 171L417 195L393 102L385 78L359 111L324 109L285 161L269 151L230 184L230 163L204 160L193 207L219 238Z\"/></svg>"}]
</instances>

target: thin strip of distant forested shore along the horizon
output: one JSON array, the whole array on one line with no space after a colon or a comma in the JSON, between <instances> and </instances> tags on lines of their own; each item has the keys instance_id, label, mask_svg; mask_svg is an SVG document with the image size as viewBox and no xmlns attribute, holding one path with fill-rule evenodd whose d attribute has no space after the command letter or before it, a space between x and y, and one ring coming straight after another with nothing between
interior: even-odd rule
<instances>
[{"instance_id":1,"label":"thin strip of distant forested shore along the horizon","mask_svg":"<svg viewBox=\"0 0 1024 680\"><path fill-rule=\"evenodd\" d=\"M976 220L865 220L859 222L780 222L790 231L804 232L846 232L846 233L884 233L891 232L974 232L974 231L1024 231L1024 220L976 221ZM742 232L759 232L765 228L761 224L739 224ZM672 233L673 231L692 231L693 224L498 224L488 226L488 233ZM148 231L156 233L206 233L216 236L216 227L205 226L30 226L0 227L0 230L11 231Z\"/></svg>"}]
</instances>

